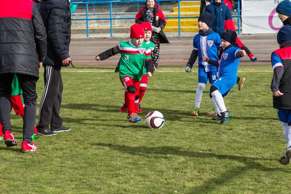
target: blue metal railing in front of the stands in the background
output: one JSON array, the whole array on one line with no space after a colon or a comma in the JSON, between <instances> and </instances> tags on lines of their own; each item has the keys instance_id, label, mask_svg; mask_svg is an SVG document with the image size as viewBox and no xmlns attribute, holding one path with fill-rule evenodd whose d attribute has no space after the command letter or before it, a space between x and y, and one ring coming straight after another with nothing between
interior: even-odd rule
<instances>
[{"instance_id":1,"label":"blue metal railing in front of the stands in the background","mask_svg":"<svg viewBox=\"0 0 291 194\"><path fill-rule=\"evenodd\" d=\"M180 2L181 1L200 1L200 0L157 0L156 3L160 3L160 2L170 2L170 1L176 1L178 2L178 16L166 16L165 18L174 18L174 19L178 19L178 36L181 36L181 19L183 18L198 18L199 16L181 16L181 6L180 6ZM89 37L89 21L90 20L110 20L110 35L111 37L113 37L113 20L127 20L127 19L135 19L135 17L113 17L113 4L115 4L115 15L124 15L124 14L117 14L117 7L121 7L124 5L117 5L120 3L143 3L143 6L145 6L145 0L81 0L77 1L77 0L72 0L71 4L77 4L78 8L82 8L82 6L79 5L83 5L83 8L86 9L86 14L78 14L80 16L86 16L85 18L72 18L72 21L80 21L80 20L85 20L86 21L86 32L87 32L87 37ZM95 8L100 8L100 6L96 7L96 4L109 4L109 6L104 6L104 7L109 7L110 9L110 13L109 14L102 14L102 15L109 15L110 17L103 17L103 18L89 18L89 16L92 15L97 15L95 13ZM238 18L238 34L240 34L240 25L241 25L241 8L240 8L240 0L237 1L238 4L238 11L232 11L232 12L236 12L237 16L232 16L232 17L237 17ZM84 6L85 5L85 6ZM129 6L125 6L125 7L130 7L130 6L137 6L137 5L129 5ZM92 14L89 14L89 8L93 8L94 12ZM139 6L138 6L138 11L139 11ZM138 13L138 11L136 12L136 14ZM135 14L135 15L136 15ZM77 15L77 14L73 14ZM126 13L126 15L129 15Z\"/></svg>"}]
</instances>

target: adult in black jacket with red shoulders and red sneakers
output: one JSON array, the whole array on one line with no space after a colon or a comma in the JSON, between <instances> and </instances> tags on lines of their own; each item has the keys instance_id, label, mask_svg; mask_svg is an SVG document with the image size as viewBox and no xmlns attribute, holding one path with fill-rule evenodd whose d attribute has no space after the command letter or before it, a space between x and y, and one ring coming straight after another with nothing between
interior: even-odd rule
<instances>
[{"instance_id":1,"label":"adult in black jacket with red shoulders and red sneakers","mask_svg":"<svg viewBox=\"0 0 291 194\"><path fill-rule=\"evenodd\" d=\"M47 35L37 6L30 0L0 1L0 120L4 143L16 146L11 132L10 96L16 74L23 91L22 152L37 150L32 142L36 115L36 81L47 54ZM36 48L36 49L35 49Z\"/></svg>"}]
</instances>

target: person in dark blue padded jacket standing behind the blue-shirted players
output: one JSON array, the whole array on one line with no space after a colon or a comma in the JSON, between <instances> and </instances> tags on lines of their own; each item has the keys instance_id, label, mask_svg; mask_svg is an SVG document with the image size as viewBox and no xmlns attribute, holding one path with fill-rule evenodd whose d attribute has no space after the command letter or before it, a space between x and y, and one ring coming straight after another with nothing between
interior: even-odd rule
<instances>
[{"instance_id":1,"label":"person in dark blue padded jacket standing behind the blue-shirted players","mask_svg":"<svg viewBox=\"0 0 291 194\"><path fill-rule=\"evenodd\" d=\"M214 22L211 28L221 36L224 32L225 21L231 19L229 8L224 4L223 0L215 0L205 8L205 12L212 14Z\"/></svg>"}]
</instances>

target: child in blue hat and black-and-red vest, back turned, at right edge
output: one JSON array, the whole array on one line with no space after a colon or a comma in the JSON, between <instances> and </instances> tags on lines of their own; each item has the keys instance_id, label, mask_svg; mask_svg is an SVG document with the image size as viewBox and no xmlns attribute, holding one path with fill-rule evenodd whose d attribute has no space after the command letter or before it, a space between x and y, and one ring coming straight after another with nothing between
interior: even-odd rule
<instances>
[{"instance_id":1,"label":"child in blue hat and black-and-red vest, back turned, at right edge","mask_svg":"<svg viewBox=\"0 0 291 194\"><path fill-rule=\"evenodd\" d=\"M291 160L291 26L283 26L277 33L277 42L280 49L272 53L273 80L273 107L277 109L279 120L283 128L283 136L287 148L279 162L287 165Z\"/></svg>"}]
</instances>

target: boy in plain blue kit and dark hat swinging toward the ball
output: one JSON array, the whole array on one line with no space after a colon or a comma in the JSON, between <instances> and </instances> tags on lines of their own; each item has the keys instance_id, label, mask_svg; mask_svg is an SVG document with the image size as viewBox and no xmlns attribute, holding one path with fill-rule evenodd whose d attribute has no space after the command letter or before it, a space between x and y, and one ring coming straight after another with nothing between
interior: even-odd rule
<instances>
[{"instance_id":1,"label":"boy in plain blue kit and dark hat swinging toward the ball","mask_svg":"<svg viewBox=\"0 0 291 194\"><path fill-rule=\"evenodd\" d=\"M219 76L210 87L210 98L217 113L217 116L211 120L220 120L220 124L226 123L230 115L223 97L235 86L240 58L246 55L245 50L238 48L238 44L235 43L236 38L237 33L235 31L227 30L223 32L221 35L221 46L223 48L221 59L216 61L203 57L203 61L219 66Z\"/></svg>"}]
</instances>

